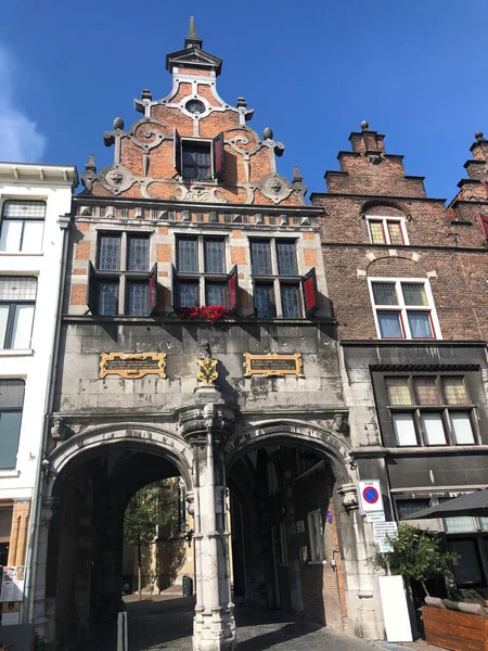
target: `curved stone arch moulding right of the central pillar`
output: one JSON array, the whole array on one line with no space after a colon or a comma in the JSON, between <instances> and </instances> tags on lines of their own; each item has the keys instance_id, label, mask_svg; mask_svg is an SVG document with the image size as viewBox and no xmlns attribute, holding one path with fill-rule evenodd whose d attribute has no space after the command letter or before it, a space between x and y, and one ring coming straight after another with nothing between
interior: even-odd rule
<instances>
[{"instance_id":1,"label":"curved stone arch moulding right of the central pillar","mask_svg":"<svg viewBox=\"0 0 488 651\"><path fill-rule=\"evenodd\" d=\"M237 457L261 445L299 443L326 457L339 485L354 481L348 463L351 448L332 430L295 420L261 421L235 432L226 443L226 463L230 468Z\"/></svg>"}]
</instances>

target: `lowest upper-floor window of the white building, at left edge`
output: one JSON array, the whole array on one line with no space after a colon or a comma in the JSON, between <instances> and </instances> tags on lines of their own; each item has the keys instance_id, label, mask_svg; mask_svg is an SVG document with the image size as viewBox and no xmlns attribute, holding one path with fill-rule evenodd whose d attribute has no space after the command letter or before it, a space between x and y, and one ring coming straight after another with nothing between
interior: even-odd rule
<instances>
[{"instance_id":1,"label":"lowest upper-floor window of the white building, at left edge","mask_svg":"<svg viewBox=\"0 0 488 651\"><path fill-rule=\"evenodd\" d=\"M0 380L0 469L15 468L21 435L23 380Z\"/></svg>"}]
</instances>

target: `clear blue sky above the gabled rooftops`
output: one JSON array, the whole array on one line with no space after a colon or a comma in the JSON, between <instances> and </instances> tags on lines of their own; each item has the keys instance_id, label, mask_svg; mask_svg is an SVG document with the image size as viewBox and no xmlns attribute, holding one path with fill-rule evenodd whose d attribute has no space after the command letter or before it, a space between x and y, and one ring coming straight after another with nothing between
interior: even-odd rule
<instances>
[{"instance_id":1,"label":"clear blue sky above the gabled rooftops","mask_svg":"<svg viewBox=\"0 0 488 651\"><path fill-rule=\"evenodd\" d=\"M473 133L488 137L486 0L4 0L0 9L0 159L112 162L103 131L140 117L142 88L167 94L167 52L194 15L204 49L223 59L220 95L244 95L249 126L270 126L309 192L368 119L450 199Z\"/></svg>"}]
</instances>

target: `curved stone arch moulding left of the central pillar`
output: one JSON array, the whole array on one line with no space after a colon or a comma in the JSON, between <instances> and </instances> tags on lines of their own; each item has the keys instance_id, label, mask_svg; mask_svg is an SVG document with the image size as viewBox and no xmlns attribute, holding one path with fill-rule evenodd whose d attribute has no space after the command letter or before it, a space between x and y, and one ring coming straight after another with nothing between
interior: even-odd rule
<instances>
[{"instance_id":1,"label":"curved stone arch moulding left of the central pillar","mask_svg":"<svg viewBox=\"0 0 488 651\"><path fill-rule=\"evenodd\" d=\"M121 444L165 457L179 470L187 489L193 489L190 446L175 432L137 422L90 427L69 437L48 456L49 472L57 478L74 462L85 460L90 452L100 451L101 446ZM52 495L54 484L55 481L49 482L49 496Z\"/></svg>"}]
</instances>

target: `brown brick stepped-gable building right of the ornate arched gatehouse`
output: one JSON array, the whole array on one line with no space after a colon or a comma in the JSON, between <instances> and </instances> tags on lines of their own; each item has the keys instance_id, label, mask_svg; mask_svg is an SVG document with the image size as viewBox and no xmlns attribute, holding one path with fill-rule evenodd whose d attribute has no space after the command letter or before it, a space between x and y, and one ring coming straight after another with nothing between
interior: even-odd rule
<instances>
[{"instance_id":1,"label":"brown brick stepped-gable building right of the ornate arched gatehouse","mask_svg":"<svg viewBox=\"0 0 488 651\"><path fill-rule=\"evenodd\" d=\"M393 518L409 520L487 483L488 141L476 133L467 178L446 207L368 123L349 140L341 170L325 174L328 192L311 199L324 209L352 456L363 478L384 467ZM487 587L485 519L424 526L445 531L460 553L458 586Z\"/></svg>"}]
</instances>

